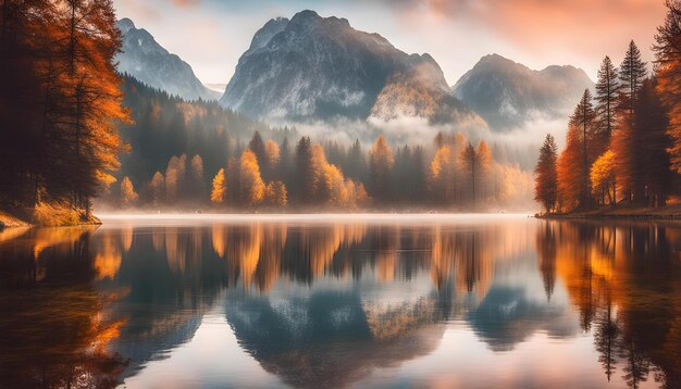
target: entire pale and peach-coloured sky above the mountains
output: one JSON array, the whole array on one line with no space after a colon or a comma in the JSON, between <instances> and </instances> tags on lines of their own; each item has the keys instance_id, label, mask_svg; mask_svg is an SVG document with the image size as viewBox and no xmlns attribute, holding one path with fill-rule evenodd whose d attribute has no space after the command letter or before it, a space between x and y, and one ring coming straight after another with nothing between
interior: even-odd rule
<instances>
[{"instance_id":1,"label":"entire pale and peach-coloured sky above the mountains","mask_svg":"<svg viewBox=\"0 0 681 389\"><path fill-rule=\"evenodd\" d=\"M408 53L430 53L454 85L490 53L531 68L573 65L592 79L633 39L646 61L664 0L113 0L205 84L226 84L253 34L301 10L345 17Z\"/></svg>"}]
</instances>

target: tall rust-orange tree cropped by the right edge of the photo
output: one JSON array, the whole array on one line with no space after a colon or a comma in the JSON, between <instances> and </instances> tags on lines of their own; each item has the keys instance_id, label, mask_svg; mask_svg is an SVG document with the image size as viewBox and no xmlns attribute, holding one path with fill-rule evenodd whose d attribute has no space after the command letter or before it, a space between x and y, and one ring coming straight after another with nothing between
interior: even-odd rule
<instances>
[{"instance_id":1,"label":"tall rust-orange tree cropped by the right edge of the photo","mask_svg":"<svg viewBox=\"0 0 681 389\"><path fill-rule=\"evenodd\" d=\"M668 0L665 23L655 35L657 90L669 111L669 148L672 168L681 173L681 3Z\"/></svg>"}]
</instances>

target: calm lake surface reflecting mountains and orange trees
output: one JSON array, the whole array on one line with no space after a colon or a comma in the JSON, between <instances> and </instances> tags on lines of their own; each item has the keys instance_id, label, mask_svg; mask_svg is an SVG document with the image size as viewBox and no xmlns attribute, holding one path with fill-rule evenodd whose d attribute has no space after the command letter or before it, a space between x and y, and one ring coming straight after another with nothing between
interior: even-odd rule
<instances>
[{"instance_id":1,"label":"calm lake surface reflecting mountains and orange trees","mask_svg":"<svg viewBox=\"0 0 681 389\"><path fill-rule=\"evenodd\" d=\"M131 217L0 233L3 388L681 388L680 344L679 223Z\"/></svg>"}]
</instances>

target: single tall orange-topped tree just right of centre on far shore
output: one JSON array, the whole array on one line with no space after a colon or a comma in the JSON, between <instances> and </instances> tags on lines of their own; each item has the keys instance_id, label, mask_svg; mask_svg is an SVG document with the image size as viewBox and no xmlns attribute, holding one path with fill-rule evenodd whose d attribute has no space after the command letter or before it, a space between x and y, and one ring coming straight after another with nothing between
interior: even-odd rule
<instances>
[{"instance_id":1,"label":"single tall orange-topped tree just right of centre on far shore","mask_svg":"<svg viewBox=\"0 0 681 389\"><path fill-rule=\"evenodd\" d=\"M371 196L384 205L391 200L391 177L395 155L383 136L379 136L369 152L369 183Z\"/></svg>"}]
</instances>

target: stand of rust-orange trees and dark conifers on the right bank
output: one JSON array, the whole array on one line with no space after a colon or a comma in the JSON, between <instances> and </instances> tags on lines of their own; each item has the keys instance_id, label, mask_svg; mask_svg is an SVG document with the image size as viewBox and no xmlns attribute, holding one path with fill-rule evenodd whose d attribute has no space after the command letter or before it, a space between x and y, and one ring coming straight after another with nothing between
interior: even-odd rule
<instances>
[{"instance_id":1,"label":"stand of rust-orange trees and dark conifers on the right bank","mask_svg":"<svg viewBox=\"0 0 681 389\"><path fill-rule=\"evenodd\" d=\"M619 67L605 57L594 95L570 116L565 149L547 135L534 198L546 213L661 208L681 173L681 7L667 1L652 72L632 40Z\"/></svg>"}]
</instances>

